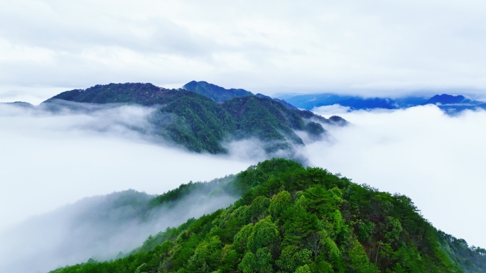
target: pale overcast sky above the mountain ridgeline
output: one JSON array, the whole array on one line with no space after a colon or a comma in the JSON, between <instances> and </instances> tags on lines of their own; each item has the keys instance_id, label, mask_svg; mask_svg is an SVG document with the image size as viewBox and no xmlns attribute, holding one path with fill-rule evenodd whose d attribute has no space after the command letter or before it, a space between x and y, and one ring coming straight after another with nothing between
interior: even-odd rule
<instances>
[{"instance_id":1,"label":"pale overcast sky above the mountain ridgeline","mask_svg":"<svg viewBox=\"0 0 486 273\"><path fill-rule=\"evenodd\" d=\"M279 93L486 88L485 1L0 0L0 101L193 79Z\"/></svg>"}]
</instances>

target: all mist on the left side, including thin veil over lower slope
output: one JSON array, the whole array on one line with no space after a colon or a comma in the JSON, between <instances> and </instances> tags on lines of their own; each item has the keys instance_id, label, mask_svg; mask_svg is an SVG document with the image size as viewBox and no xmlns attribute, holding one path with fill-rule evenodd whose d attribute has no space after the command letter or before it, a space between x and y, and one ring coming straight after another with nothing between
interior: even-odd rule
<instances>
[{"instance_id":1,"label":"all mist on the left side, including thin veil over lower slope","mask_svg":"<svg viewBox=\"0 0 486 273\"><path fill-rule=\"evenodd\" d=\"M0 104L0 272L46 272L89 257L111 259L168 225L234 201L208 200L197 210L192 202L139 223L129 206L107 218L90 217L102 213L109 199L97 195L126 189L162 194L254 164L151 139L144 132L151 130L147 117L154 108L77 104L52 110ZM96 197L53 211L85 196Z\"/></svg>"}]
</instances>

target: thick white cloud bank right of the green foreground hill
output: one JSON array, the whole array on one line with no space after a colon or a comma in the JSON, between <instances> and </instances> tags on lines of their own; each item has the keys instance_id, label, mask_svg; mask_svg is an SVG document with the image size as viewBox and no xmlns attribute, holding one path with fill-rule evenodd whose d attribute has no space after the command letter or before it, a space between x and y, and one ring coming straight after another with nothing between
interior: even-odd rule
<instances>
[{"instance_id":1,"label":"thick white cloud bank right of the green foreground hill","mask_svg":"<svg viewBox=\"0 0 486 273\"><path fill-rule=\"evenodd\" d=\"M485 208L486 111L450 117L436 106L417 106L342 117L352 126L328 128L332 141L306 146L312 165L405 194L436 228L486 246L486 221L478 217Z\"/></svg>"}]
</instances>

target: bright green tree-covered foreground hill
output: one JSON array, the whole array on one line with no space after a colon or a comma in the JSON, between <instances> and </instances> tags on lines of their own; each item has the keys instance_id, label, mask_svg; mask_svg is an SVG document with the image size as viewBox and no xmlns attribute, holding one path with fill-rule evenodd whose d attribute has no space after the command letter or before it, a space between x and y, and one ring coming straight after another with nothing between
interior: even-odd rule
<instances>
[{"instance_id":1,"label":"bright green tree-covered foreground hill","mask_svg":"<svg viewBox=\"0 0 486 273\"><path fill-rule=\"evenodd\" d=\"M486 250L433 228L406 196L283 159L231 181L244 193L232 206L151 236L127 257L53 273L486 270Z\"/></svg>"}]
</instances>

